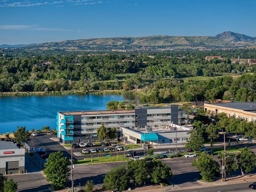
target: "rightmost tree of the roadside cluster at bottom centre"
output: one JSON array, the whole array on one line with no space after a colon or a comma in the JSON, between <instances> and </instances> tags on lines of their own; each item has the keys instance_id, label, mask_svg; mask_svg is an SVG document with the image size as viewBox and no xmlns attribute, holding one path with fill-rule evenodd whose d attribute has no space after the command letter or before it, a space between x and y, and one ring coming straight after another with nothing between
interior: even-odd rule
<instances>
[{"instance_id":1,"label":"rightmost tree of the roadside cluster at bottom centre","mask_svg":"<svg viewBox=\"0 0 256 192\"><path fill-rule=\"evenodd\" d=\"M173 176L169 165L166 165L157 159L153 159L149 163L149 169L151 170L150 180L154 183L161 183L166 180L167 177L171 178Z\"/></svg>"}]
</instances>

